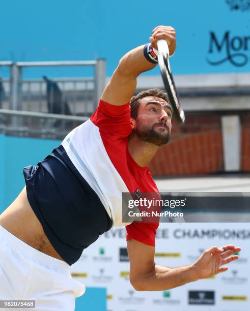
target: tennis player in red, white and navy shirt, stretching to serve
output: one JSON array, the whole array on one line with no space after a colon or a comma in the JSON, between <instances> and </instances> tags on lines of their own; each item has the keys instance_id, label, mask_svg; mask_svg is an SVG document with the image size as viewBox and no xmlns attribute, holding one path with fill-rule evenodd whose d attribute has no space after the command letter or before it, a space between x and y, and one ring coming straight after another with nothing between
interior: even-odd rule
<instances>
[{"instance_id":1,"label":"tennis player in red, white and navy shirt, stretching to serve","mask_svg":"<svg viewBox=\"0 0 250 311\"><path fill-rule=\"evenodd\" d=\"M0 300L36 300L37 310L73 310L85 286L70 265L99 235L122 221L123 192L155 192L148 164L168 143L172 108L150 89L132 97L136 78L157 64L159 39L176 47L175 30L158 26L150 44L125 54L92 117L37 166L23 170L26 186L0 215ZM154 262L158 223L126 226L130 282L138 291L171 289L224 272L240 248L205 251L189 266Z\"/></svg>"}]
</instances>

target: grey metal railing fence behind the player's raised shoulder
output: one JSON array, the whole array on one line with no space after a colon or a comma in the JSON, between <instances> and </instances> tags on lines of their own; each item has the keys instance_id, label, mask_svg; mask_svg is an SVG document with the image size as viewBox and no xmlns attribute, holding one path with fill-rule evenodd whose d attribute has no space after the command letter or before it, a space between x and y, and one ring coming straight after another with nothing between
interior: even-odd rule
<instances>
[{"instance_id":1,"label":"grey metal railing fence behind the player's raised shoulder","mask_svg":"<svg viewBox=\"0 0 250 311\"><path fill-rule=\"evenodd\" d=\"M2 61L10 70L0 80L0 132L8 135L63 138L86 121L97 107L105 86L105 59L96 61ZM93 67L89 78L22 79L27 67Z\"/></svg>"}]
</instances>

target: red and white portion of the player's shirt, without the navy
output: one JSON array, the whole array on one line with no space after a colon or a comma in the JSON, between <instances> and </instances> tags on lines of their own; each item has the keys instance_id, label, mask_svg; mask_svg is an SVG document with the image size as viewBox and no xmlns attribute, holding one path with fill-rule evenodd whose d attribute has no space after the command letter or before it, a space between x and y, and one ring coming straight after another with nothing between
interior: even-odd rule
<instances>
[{"instance_id":1,"label":"red and white portion of the player's shirt, without the navy","mask_svg":"<svg viewBox=\"0 0 250 311\"><path fill-rule=\"evenodd\" d=\"M139 166L128 151L132 132L130 106L115 106L100 100L90 120L73 130L63 146L82 176L98 194L114 226L123 226L122 193L158 192L148 167ZM80 168L70 149L74 146L88 173ZM158 223L136 223L126 226L127 240L133 238L155 245Z\"/></svg>"}]
</instances>

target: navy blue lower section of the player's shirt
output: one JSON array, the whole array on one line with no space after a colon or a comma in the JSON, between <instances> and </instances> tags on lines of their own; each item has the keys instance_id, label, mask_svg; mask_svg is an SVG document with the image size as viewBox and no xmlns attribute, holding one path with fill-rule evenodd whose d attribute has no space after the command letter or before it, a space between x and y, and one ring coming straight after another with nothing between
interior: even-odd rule
<instances>
[{"instance_id":1,"label":"navy blue lower section of the player's shirt","mask_svg":"<svg viewBox=\"0 0 250 311\"><path fill-rule=\"evenodd\" d=\"M80 175L63 146L23 170L27 198L59 255L75 263L82 251L112 227L97 194Z\"/></svg>"}]
</instances>

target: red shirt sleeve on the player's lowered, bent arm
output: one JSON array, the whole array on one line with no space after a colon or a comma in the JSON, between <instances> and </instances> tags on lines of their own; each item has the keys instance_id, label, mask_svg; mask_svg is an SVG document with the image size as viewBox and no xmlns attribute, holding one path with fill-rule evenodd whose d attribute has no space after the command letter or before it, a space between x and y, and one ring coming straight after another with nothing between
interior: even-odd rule
<instances>
[{"instance_id":1,"label":"red shirt sleeve on the player's lowered, bent arm","mask_svg":"<svg viewBox=\"0 0 250 311\"><path fill-rule=\"evenodd\" d=\"M144 244L155 246L155 234L159 223L136 223L126 226L126 240L134 239Z\"/></svg>"}]
</instances>

